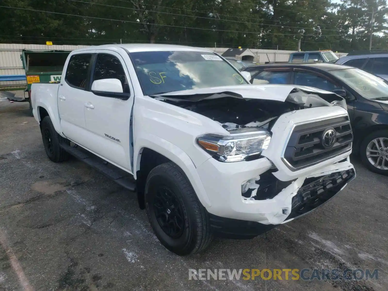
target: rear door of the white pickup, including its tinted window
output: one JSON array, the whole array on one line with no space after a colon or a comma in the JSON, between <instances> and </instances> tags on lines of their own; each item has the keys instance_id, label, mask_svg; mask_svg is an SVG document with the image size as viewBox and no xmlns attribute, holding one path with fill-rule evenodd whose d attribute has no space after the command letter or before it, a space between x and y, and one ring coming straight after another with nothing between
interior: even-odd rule
<instances>
[{"instance_id":1,"label":"rear door of the white pickup, including its tinted window","mask_svg":"<svg viewBox=\"0 0 388 291\"><path fill-rule=\"evenodd\" d=\"M73 54L58 90L58 110L62 132L77 143L80 133L86 129L83 103L88 95L85 88L92 56L92 54ZM81 142L79 143L82 145Z\"/></svg>"}]
</instances>

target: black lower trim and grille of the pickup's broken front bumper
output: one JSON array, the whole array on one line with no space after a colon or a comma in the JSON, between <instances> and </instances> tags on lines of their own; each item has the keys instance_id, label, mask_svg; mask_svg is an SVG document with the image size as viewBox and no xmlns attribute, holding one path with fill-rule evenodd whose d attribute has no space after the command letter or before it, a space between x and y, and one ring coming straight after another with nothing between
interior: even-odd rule
<instances>
[{"instance_id":1,"label":"black lower trim and grille of the pickup's broken front bumper","mask_svg":"<svg viewBox=\"0 0 388 291\"><path fill-rule=\"evenodd\" d=\"M354 178L353 168L321 177L306 178L302 187L292 198L291 213L282 223L315 210L333 198ZM250 239L280 225L225 218L211 213L209 217L213 235L229 239Z\"/></svg>"}]
</instances>

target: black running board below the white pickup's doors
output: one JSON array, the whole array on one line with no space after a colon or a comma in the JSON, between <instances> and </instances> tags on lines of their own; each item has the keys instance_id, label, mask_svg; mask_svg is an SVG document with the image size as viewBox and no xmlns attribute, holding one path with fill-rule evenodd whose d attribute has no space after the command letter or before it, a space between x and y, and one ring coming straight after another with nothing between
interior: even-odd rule
<instances>
[{"instance_id":1,"label":"black running board below the white pickup's doors","mask_svg":"<svg viewBox=\"0 0 388 291\"><path fill-rule=\"evenodd\" d=\"M133 192L136 191L136 181L130 173L127 173L126 171L104 161L104 159L86 151L80 146L72 147L67 144L61 144L61 147L75 158L87 163L89 166L98 170L106 177L111 178L122 187Z\"/></svg>"}]
</instances>

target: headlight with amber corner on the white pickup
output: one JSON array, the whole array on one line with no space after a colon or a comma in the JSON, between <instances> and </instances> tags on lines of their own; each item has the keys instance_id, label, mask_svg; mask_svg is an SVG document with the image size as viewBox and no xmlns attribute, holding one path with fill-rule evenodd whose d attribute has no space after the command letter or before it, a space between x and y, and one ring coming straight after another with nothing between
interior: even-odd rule
<instances>
[{"instance_id":1,"label":"headlight with amber corner on the white pickup","mask_svg":"<svg viewBox=\"0 0 388 291\"><path fill-rule=\"evenodd\" d=\"M268 148L271 135L267 130L246 128L234 134L222 137L219 135L201 135L197 144L211 155L223 162L237 162L258 156Z\"/></svg>"}]
</instances>

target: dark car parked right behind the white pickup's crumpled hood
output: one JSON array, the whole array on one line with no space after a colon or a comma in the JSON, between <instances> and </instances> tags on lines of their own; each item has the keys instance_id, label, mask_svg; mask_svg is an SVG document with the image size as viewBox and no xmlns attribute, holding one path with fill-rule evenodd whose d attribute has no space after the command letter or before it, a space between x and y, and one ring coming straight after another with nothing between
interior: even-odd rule
<instances>
[{"instance_id":1,"label":"dark car parked right behind the white pickup's crumpled hood","mask_svg":"<svg viewBox=\"0 0 388 291\"><path fill-rule=\"evenodd\" d=\"M244 68L253 84L294 84L335 92L346 100L353 152L370 170L388 175L388 84L378 76L329 63L267 64Z\"/></svg>"}]
</instances>

